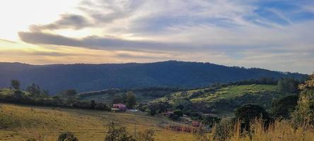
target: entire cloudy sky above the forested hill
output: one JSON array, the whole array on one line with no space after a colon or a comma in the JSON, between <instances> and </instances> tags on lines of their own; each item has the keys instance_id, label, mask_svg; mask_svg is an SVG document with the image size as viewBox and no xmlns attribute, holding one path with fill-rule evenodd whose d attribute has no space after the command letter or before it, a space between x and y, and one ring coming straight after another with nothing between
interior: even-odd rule
<instances>
[{"instance_id":1,"label":"entire cloudy sky above the forested hill","mask_svg":"<svg viewBox=\"0 0 314 141\"><path fill-rule=\"evenodd\" d=\"M312 0L3 0L0 62L314 71Z\"/></svg>"}]
</instances>

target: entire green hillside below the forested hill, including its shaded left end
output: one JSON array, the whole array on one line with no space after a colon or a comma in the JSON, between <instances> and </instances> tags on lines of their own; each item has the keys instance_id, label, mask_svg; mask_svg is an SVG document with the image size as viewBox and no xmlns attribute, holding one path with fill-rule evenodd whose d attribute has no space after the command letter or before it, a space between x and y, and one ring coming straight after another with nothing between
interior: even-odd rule
<instances>
[{"instance_id":1,"label":"entire green hillside below the forested hill, including its shaded left end","mask_svg":"<svg viewBox=\"0 0 314 141\"><path fill-rule=\"evenodd\" d=\"M111 103L115 97L122 97L128 90L104 90L78 94L82 100ZM169 102L172 105L180 100L190 101L192 111L218 116L232 116L233 110L243 104L259 104L269 110L272 101L292 93L281 93L277 85L218 85L195 90L175 90L146 88L131 90L137 102ZM178 105L178 104L177 104Z\"/></svg>"}]
</instances>

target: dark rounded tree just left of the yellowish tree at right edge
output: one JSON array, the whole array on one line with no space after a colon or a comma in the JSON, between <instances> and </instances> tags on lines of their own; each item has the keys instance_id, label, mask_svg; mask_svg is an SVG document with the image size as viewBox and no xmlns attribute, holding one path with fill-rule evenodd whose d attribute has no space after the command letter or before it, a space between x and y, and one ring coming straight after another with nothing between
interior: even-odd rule
<instances>
[{"instance_id":1,"label":"dark rounded tree just left of the yellowish tree at right edge","mask_svg":"<svg viewBox=\"0 0 314 141\"><path fill-rule=\"evenodd\" d=\"M271 113L274 118L291 118L292 112L296 109L298 104L298 95L293 94L281 99L276 99L272 102Z\"/></svg>"}]
</instances>

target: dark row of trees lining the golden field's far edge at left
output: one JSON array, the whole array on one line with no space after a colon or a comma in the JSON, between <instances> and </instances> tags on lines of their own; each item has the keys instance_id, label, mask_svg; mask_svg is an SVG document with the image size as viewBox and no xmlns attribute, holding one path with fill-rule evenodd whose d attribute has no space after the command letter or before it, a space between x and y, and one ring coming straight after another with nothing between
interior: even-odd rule
<instances>
[{"instance_id":1,"label":"dark row of trees lining the golden field's far edge at left","mask_svg":"<svg viewBox=\"0 0 314 141\"><path fill-rule=\"evenodd\" d=\"M110 108L103 103L97 103L94 100L81 101L76 96L76 90L65 90L54 97L49 95L47 90L40 89L39 85L34 83L26 88L25 91L19 90L21 83L18 80L11 80L13 94L0 94L0 102L30 104L38 106L65 106L83 109L98 109L110 111Z\"/></svg>"}]
</instances>

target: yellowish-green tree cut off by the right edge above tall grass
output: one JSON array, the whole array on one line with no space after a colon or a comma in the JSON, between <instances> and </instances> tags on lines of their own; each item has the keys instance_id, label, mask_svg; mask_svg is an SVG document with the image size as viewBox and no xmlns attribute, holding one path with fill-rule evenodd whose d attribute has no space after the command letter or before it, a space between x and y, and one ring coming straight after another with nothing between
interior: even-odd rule
<instances>
[{"instance_id":1,"label":"yellowish-green tree cut off by the right edge above tall grass","mask_svg":"<svg viewBox=\"0 0 314 141\"><path fill-rule=\"evenodd\" d=\"M314 73L298 87L301 94L296 111L293 112L293 121L306 129L309 123L314 125Z\"/></svg>"}]
</instances>

